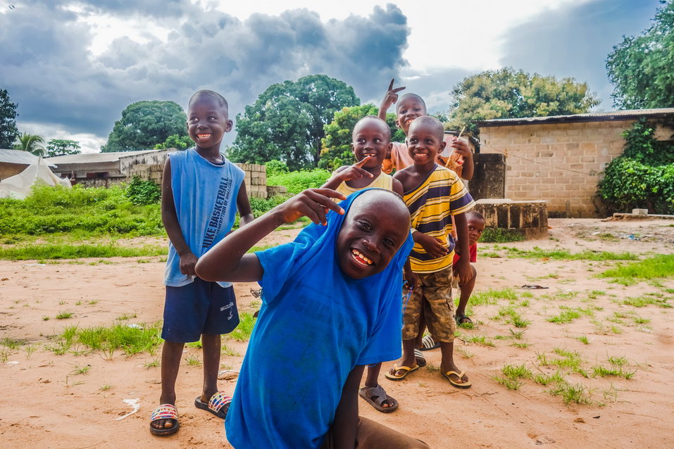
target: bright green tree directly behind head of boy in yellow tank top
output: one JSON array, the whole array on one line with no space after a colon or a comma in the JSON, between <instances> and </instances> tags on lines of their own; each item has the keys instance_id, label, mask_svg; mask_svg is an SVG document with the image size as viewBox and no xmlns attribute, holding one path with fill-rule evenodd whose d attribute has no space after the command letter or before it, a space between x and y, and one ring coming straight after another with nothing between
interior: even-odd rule
<instances>
[{"instance_id":1,"label":"bright green tree directly behind head of boy in yellow tank top","mask_svg":"<svg viewBox=\"0 0 674 449\"><path fill-rule=\"evenodd\" d=\"M342 165L351 165L356 162L354 153L351 151L351 132L358 120L366 115L377 115L379 107L372 103L362 106L351 106L338 110L332 118L332 122L325 125L325 137L323 149L320 151L318 167L327 170L336 170ZM387 114L386 122L391 128L392 141L404 141L405 134L395 125L396 115Z\"/></svg>"}]
</instances>

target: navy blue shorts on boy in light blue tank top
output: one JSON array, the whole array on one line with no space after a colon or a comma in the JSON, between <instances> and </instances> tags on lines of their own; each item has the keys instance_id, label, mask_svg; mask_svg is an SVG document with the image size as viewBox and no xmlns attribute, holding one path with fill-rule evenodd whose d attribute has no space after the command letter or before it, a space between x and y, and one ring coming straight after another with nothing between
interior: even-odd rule
<instances>
[{"instance_id":1,"label":"navy blue shorts on boy in light blue tank top","mask_svg":"<svg viewBox=\"0 0 674 449\"><path fill-rule=\"evenodd\" d=\"M225 289L198 277L192 284L166 286L162 339L176 343L199 341L201 334L227 334L238 325L234 287Z\"/></svg>"}]
</instances>

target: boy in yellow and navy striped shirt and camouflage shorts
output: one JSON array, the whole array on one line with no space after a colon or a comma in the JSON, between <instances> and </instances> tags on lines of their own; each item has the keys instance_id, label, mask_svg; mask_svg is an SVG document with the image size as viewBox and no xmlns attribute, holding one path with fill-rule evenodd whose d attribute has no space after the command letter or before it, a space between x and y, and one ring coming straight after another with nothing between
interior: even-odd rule
<instances>
[{"instance_id":1,"label":"boy in yellow and navy striped shirt and camouflage shorts","mask_svg":"<svg viewBox=\"0 0 674 449\"><path fill-rule=\"evenodd\" d=\"M411 227L419 242L409 255L405 279L411 296L404 304L403 356L385 374L388 379L401 380L419 368L414 348L423 308L430 333L440 342L442 375L458 388L469 388L470 381L454 364L454 322L451 300L452 259L454 239L451 236L452 216L456 223L461 254L468 254L468 227L466 211L475 204L468 190L455 172L436 162L439 151L445 147L442 123L423 115L408 129L408 151L413 165L396 172L394 179L403 185L404 200L411 216ZM422 241L428 240L425 244ZM471 277L468 258L456 264L461 284Z\"/></svg>"}]
</instances>

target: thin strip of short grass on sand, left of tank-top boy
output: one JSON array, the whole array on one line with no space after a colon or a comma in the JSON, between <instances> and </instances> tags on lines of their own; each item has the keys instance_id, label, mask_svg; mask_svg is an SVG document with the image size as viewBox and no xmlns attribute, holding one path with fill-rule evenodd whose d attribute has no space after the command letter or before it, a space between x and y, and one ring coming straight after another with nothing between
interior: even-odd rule
<instances>
[{"instance_id":1,"label":"thin strip of short grass on sand, left of tank-top boy","mask_svg":"<svg viewBox=\"0 0 674 449\"><path fill-rule=\"evenodd\" d=\"M45 260L45 259L81 259L113 258L163 255L168 253L166 246L146 245L140 247L115 245L25 245L0 248L2 260Z\"/></svg>"}]
</instances>

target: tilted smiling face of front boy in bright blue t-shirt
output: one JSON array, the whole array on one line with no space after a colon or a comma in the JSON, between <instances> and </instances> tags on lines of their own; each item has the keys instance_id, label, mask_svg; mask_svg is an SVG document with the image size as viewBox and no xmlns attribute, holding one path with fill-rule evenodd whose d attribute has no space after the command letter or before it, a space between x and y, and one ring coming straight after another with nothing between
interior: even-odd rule
<instances>
[{"instance_id":1,"label":"tilted smiling face of front boy in bright blue t-shirt","mask_svg":"<svg viewBox=\"0 0 674 449\"><path fill-rule=\"evenodd\" d=\"M352 279L382 272L409 234L409 212L389 191L358 196L337 235L339 268Z\"/></svg>"}]
</instances>

